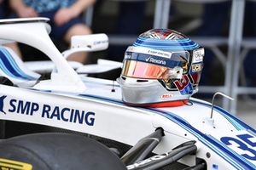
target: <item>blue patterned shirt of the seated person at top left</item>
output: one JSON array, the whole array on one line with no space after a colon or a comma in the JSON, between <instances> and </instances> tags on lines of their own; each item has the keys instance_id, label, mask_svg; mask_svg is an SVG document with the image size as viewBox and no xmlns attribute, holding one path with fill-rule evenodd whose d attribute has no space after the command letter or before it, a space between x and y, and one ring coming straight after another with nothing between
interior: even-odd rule
<instances>
[{"instance_id":1,"label":"blue patterned shirt of the seated person at top left","mask_svg":"<svg viewBox=\"0 0 256 170\"><path fill-rule=\"evenodd\" d=\"M76 0L23 0L28 6L34 8L38 13L57 10L59 8L67 8Z\"/></svg>"}]
</instances>

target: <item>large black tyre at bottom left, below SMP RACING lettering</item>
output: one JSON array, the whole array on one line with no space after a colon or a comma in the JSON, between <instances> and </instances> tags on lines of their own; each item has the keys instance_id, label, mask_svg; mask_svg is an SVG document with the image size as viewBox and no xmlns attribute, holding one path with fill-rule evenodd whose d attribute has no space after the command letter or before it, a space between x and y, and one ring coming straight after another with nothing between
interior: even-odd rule
<instances>
[{"instance_id":1,"label":"large black tyre at bottom left, below SMP RACING lettering","mask_svg":"<svg viewBox=\"0 0 256 170\"><path fill-rule=\"evenodd\" d=\"M25 162L39 170L126 169L103 144L66 133L37 133L3 140L0 158Z\"/></svg>"}]
</instances>

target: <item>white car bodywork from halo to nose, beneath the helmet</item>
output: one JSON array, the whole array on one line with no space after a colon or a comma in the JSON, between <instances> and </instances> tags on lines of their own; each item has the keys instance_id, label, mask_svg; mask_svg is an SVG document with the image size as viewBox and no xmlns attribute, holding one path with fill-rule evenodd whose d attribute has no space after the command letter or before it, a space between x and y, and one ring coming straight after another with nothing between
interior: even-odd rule
<instances>
[{"instance_id":1,"label":"white car bodywork from halo to nose, beneath the helmet","mask_svg":"<svg viewBox=\"0 0 256 170\"><path fill-rule=\"evenodd\" d=\"M180 160L187 165L195 165L195 157L199 157L207 162L209 170L256 169L255 130L227 111L214 107L212 124L207 122L211 105L199 99L190 99L191 105L172 108L125 105L117 82L79 77L67 65L50 42L44 21L18 24L19 30L20 26L26 29L35 26L26 33L30 37L26 41L22 36L5 35L9 34L6 31L9 27L12 28L10 32L18 32L16 25L0 25L0 37L26 42L36 48L40 43L38 49L49 54L57 71L50 81L41 81L35 86L17 88L0 85L0 119L66 128L130 145L162 127L165 136L155 153L161 154L183 142L195 140L198 147L196 155ZM44 33L40 33L37 39L40 31ZM19 33L24 34L25 31Z\"/></svg>"}]
</instances>

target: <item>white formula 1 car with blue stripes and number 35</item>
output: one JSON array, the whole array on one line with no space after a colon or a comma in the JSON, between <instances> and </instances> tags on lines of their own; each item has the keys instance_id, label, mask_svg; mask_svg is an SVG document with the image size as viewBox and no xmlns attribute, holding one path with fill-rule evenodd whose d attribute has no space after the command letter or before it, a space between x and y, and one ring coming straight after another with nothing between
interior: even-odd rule
<instances>
[{"instance_id":1,"label":"white formula 1 car with blue stripes and number 35","mask_svg":"<svg viewBox=\"0 0 256 170\"><path fill-rule=\"evenodd\" d=\"M72 48L61 54L49 38L47 21L0 21L1 39L38 48L55 64L50 78L42 80L10 48L1 47L0 119L79 135L2 139L2 169L256 169L253 127L201 99L189 98L178 107L126 105L117 82L79 75L63 57L107 48L108 38L74 37ZM113 65L105 66L119 67ZM127 146L124 154L119 145Z\"/></svg>"}]
</instances>

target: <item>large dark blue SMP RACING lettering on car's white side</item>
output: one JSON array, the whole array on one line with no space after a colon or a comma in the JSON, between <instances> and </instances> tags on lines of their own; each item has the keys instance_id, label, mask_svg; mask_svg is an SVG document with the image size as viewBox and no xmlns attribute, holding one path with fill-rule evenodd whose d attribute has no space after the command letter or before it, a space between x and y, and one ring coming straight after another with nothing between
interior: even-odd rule
<instances>
[{"instance_id":1,"label":"large dark blue SMP RACING lettering on car's white side","mask_svg":"<svg viewBox=\"0 0 256 170\"><path fill-rule=\"evenodd\" d=\"M9 108L5 111L3 111L3 102L1 105L0 100L0 110L1 108L1 112L3 113L8 111L9 113L22 114L27 116L34 116L39 114L39 116L44 119L52 119L61 122L73 122L85 124L87 126L94 126L96 115L95 112L92 111L83 111L69 107L61 107L58 105L53 106L47 104L38 104L35 102L18 99L10 99Z\"/></svg>"}]
</instances>

